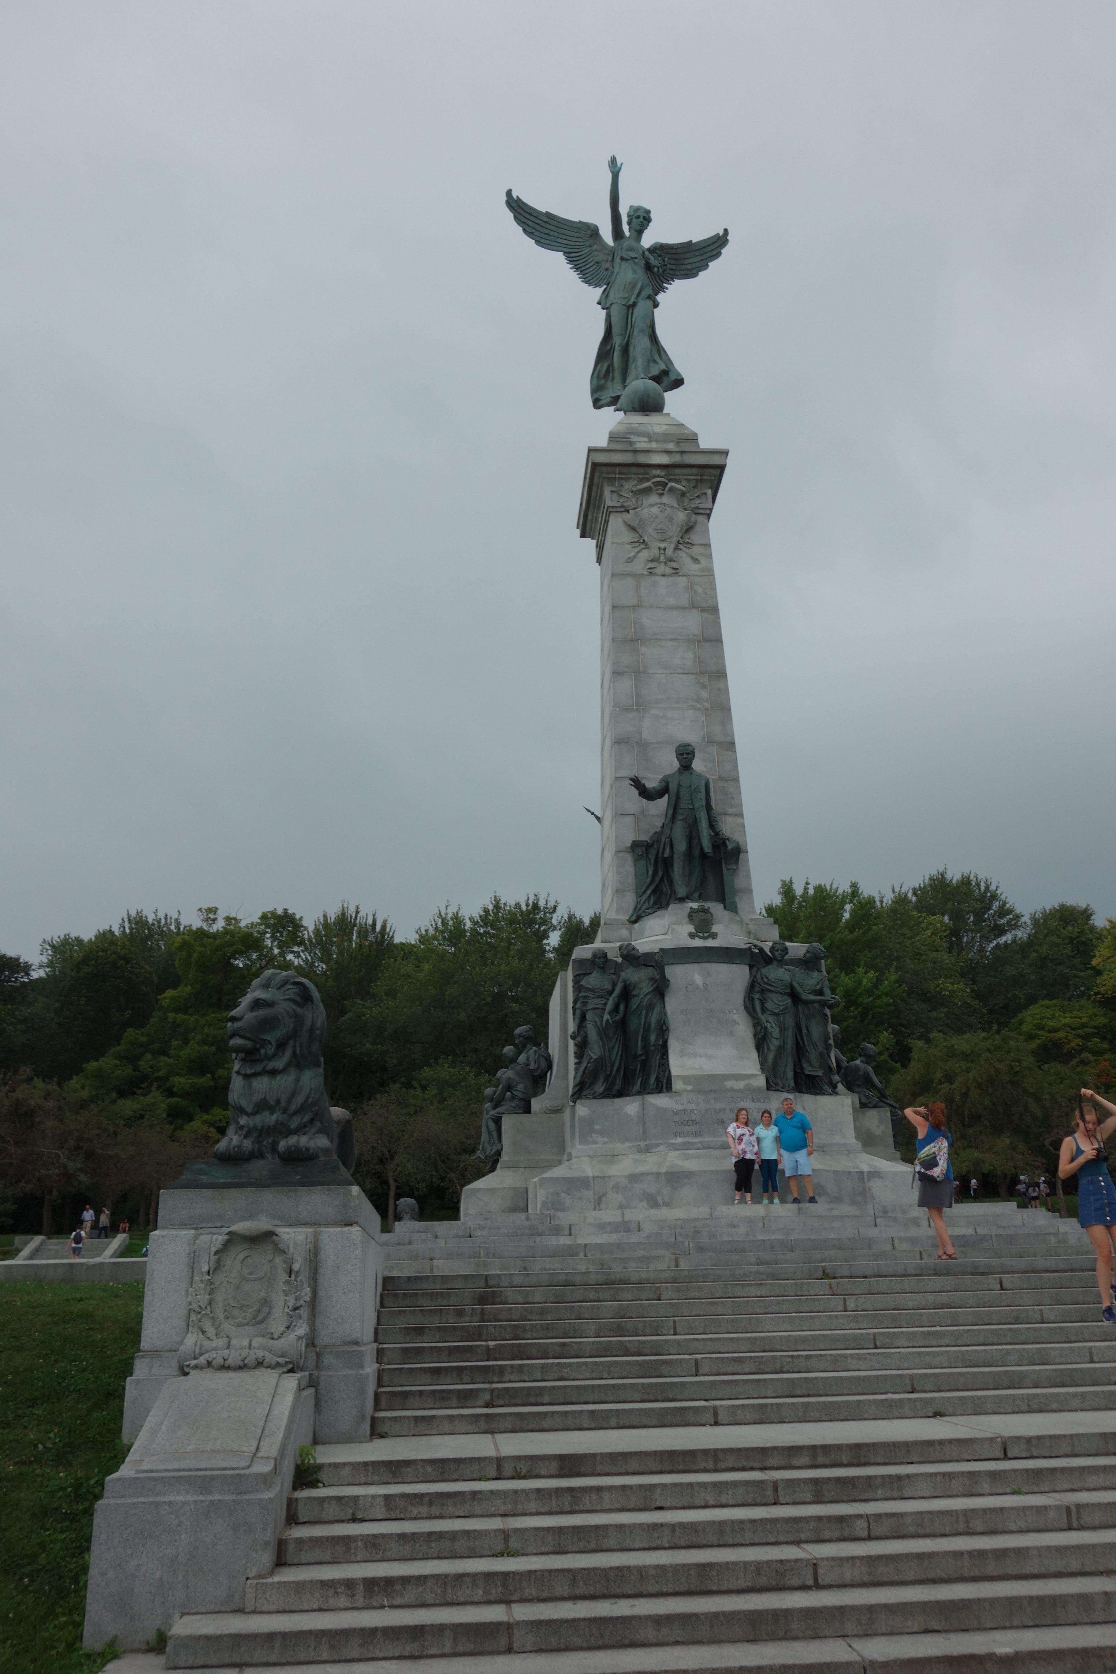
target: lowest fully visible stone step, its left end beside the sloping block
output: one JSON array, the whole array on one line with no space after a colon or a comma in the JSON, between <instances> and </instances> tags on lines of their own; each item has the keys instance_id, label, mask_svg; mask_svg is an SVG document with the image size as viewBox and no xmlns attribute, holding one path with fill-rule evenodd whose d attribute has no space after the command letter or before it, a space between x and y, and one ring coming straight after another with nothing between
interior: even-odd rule
<instances>
[{"instance_id":1,"label":"lowest fully visible stone step, its left end beside the sloping block","mask_svg":"<svg viewBox=\"0 0 1116 1674\"><path fill-rule=\"evenodd\" d=\"M1054 1575L934 1585L664 1594L639 1599L529 1600L425 1609L228 1612L182 1615L167 1637L169 1669L361 1657L502 1657L509 1652L611 1651L1084 1625L1116 1620L1116 1580ZM606 1664L607 1666L607 1664ZM817 1669L817 1661L811 1662ZM646 1671L648 1662L642 1662Z\"/></svg>"}]
</instances>

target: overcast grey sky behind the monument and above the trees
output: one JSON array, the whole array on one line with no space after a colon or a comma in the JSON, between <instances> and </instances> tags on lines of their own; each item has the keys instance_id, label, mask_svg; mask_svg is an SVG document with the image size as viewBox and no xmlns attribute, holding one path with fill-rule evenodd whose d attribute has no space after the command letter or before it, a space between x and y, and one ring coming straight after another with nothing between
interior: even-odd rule
<instances>
[{"instance_id":1,"label":"overcast grey sky behind the monument and above the trees","mask_svg":"<svg viewBox=\"0 0 1116 1674\"><path fill-rule=\"evenodd\" d=\"M0 947L599 901L594 293L651 238L756 892L1116 914L1116 10L0 7Z\"/></svg>"}]
</instances>

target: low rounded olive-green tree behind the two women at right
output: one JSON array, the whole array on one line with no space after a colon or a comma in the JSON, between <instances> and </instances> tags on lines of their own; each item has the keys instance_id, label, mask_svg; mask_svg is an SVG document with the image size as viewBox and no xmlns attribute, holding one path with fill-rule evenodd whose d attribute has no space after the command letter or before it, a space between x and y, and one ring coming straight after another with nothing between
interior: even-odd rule
<instances>
[{"instance_id":1,"label":"low rounded olive-green tree behind the two women at right","mask_svg":"<svg viewBox=\"0 0 1116 1674\"><path fill-rule=\"evenodd\" d=\"M1064 1071L1036 1063L1027 1041L1011 1031L919 1041L890 1091L904 1107L940 1098L954 1135L954 1170L994 1173L1004 1199L1021 1168L1054 1168L1057 1142L1069 1132ZM914 1155L914 1128L904 1152Z\"/></svg>"}]
</instances>

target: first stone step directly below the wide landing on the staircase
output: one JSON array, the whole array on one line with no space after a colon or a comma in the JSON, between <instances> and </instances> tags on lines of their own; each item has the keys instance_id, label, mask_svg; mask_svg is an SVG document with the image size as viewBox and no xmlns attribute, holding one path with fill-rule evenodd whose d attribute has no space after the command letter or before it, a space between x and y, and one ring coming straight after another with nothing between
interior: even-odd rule
<instances>
[{"instance_id":1,"label":"first stone step directly below the wide landing on the staircase","mask_svg":"<svg viewBox=\"0 0 1116 1674\"><path fill-rule=\"evenodd\" d=\"M383 1485L356 1481L330 1488L303 1488L293 1495L293 1522L284 1538L299 1540L303 1532L310 1535L320 1525L336 1525L361 1535L366 1530L353 1530L351 1525L375 1518L383 1518L397 1530L403 1530L410 1520L463 1527L468 1518L479 1518L485 1525L500 1518L509 1525L530 1518L572 1518L576 1523L604 1518L612 1520L616 1528L616 1518L622 1515L627 1522L631 1513L691 1515L714 1510L735 1515L741 1508L756 1507L756 1515L761 1517L771 1508L791 1512L805 1507L813 1513L818 1507L837 1507L872 1518L877 1510L887 1515L897 1507L919 1512L927 1502L959 1507L987 1502L992 1508L1009 1503L1012 1515L1014 1508L1026 1512L1031 1503L1057 1505L1064 1508L1066 1527L1091 1527L1094 1515L1091 1507L1096 1503L1096 1515L1106 1517L1113 1492L1116 1492L1116 1455L979 1458L813 1470L671 1471L632 1476L525 1473L492 1480L485 1475L462 1481ZM654 1545L653 1540L646 1543Z\"/></svg>"}]
</instances>

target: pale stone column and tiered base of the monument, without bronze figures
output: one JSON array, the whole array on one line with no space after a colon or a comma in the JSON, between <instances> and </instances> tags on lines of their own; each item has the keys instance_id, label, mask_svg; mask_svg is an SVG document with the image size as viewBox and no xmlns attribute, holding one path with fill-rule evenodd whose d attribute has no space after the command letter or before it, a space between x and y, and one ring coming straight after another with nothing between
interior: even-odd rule
<instances>
[{"instance_id":1,"label":"pale stone column and tiered base of the monument, without bronze figures","mask_svg":"<svg viewBox=\"0 0 1116 1674\"><path fill-rule=\"evenodd\" d=\"M709 546L726 459L669 413L629 413L604 447L589 449L577 522L596 542L601 569L601 931L596 944L574 947L554 989L550 1083L530 1113L504 1118L500 1165L465 1189L462 1217L731 1205L724 1128L741 1105L756 1117L765 1105L778 1108L781 1090L766 1086L745 1004L778 929L753 899ZM654 862L642 845L661 830L666 802L644 802L631 778L646 788L673 773L681 743L694 747L693 765L711 782L740 862L733 869L731 854L714 845L703 862L701 906L691 876L688 899L661 904L668 891L656 891L658 904L632 924L641 877ZM621 954L624 942L634 954ZM790 944L788 964L800 966L803 954ZM612 1091L582 1083L574 1100L581 984L594 971L599 983L606 971L619 979L624 966L648 964L664 979L658 1026L669 1065L639 1080L659 1090L624 1091L624 1065L619 1085L607 1083ZM599 996L597 986L597 1006ZM815 1128L823 1200L870 1214L909 1205L907 1170L867 1130L848 1093L795 1100Z\"/></svg>"}]
</instances>

